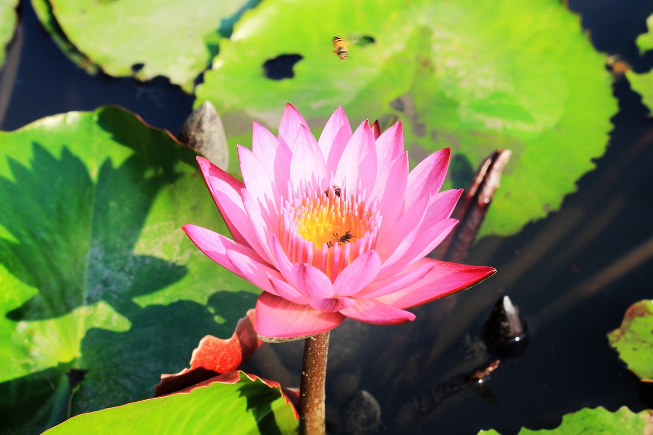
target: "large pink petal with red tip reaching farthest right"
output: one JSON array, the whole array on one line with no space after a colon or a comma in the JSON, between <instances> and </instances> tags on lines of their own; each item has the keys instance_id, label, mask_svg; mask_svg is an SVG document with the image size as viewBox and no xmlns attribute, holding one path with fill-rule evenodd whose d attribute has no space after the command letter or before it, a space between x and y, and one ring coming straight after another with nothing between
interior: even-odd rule
<instances>
[{"instance_id":1,"label":"large pink petal with red tip reaching farthest right","mask_svg":"<svg viewBox=\"0 0 653 435\"><path fill-rule=\"evenodd\" d=\"M494 274L496 269L486 266L468 266L447 261L424 258L415 264L432 263L434 268L419 282L377 300L397 308L410 308L468 289Z\"/></svg>"}]
</instances>

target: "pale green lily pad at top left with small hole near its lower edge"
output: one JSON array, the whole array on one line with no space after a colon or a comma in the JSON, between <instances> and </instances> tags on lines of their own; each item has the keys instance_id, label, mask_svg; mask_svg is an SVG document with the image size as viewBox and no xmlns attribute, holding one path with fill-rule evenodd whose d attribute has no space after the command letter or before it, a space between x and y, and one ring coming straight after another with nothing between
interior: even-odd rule
<instances>
[{"instance_id":1,"label":"pale green lily pad at top left with small hole near its lower edge","mask_svg":"<svg viewBox=\"0 0 653 435\"><path fill-rule=\"evenodd\" d=\"M167 76L191 93L193 80L217 53L254 0L32 0L63 52L86 69L150 80Z\"/></svg>"}]
</instances>

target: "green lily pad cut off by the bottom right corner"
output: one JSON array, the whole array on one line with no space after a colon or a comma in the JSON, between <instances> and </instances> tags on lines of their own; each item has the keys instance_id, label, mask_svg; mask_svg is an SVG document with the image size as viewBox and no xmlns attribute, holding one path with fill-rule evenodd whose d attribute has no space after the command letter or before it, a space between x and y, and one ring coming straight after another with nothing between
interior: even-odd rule
<instances>
[{"instance_id":1,"label":"green lily pad cut off by the bottom right corner","mask_svg":"<svg viewBox=\"0 0 653 435\"><path fill-rule=\"evenodd\" d=\"M649 434L653 430L653 411L634 413L626 406L611 412L598 408L582 410L562 416L562 423L554 429L532 430L522 428L519 435L528 434ZM496 430L481 430L479 434L498 435Z\"/></svg>"}]
</instances>

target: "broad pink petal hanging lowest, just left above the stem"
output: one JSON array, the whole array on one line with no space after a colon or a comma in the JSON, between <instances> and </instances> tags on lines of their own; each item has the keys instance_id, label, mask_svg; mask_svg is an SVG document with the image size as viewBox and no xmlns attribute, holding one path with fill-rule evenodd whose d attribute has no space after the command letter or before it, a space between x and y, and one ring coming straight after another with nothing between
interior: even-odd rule
<instances>
[{"instance_id":1,"label":"broad pink petal hanging lowest, just left above the stem","mask_svg":"<svg viewBox=\"0 0 653 435\"><path fill-rule=\"evenodd\" d=\"M340 313L317 311L309 305L299 305L263 292L256 302L256 332L275 341L303 338L334 329L345 319Z\"/></svg>"}]
</instances>

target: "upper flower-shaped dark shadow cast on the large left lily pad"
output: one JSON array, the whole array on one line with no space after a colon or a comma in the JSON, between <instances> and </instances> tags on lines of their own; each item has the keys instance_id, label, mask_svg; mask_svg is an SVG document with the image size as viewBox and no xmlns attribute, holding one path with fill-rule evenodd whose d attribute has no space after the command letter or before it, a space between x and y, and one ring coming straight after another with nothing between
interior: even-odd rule
<instances>
[{"instance_id":1,"label":"upper flower-shaped dark shadow cast on the large left lily pad","mask_svg":"<svg viewBox=\"0 0 653 435\"><path fill-rule=\"evenodd\" d=\"M33 144L32 168L8 159L15 181L0 178L0 264L39 293L7 318L59 317L105 300L129 317L129 298L180 280L185 266L135 255L151 204L174 182L170 170L152 170L142 154L114 168L107 159L94 184L78 157L63 148L56 159Z\"/></svg>"}]
</instances>

